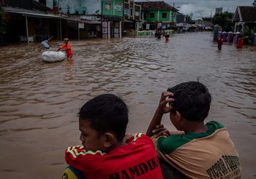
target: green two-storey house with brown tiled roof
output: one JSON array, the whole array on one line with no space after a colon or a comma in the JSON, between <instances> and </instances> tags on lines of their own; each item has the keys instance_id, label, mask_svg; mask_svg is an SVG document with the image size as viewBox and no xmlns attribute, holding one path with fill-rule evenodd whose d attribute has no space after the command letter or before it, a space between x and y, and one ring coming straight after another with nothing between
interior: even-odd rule
<instances>
[{"instance_id":1,"label":"green two-storey house with brown tiled roof","mask_svg":"<svg viewBox=\"0 0 256 179\"><path fill-rule=\"evenodd\" d=\"M142 8L143 30L176 28L178 9L165 1L138 1Z\"/></svg>"}]
</instances>

